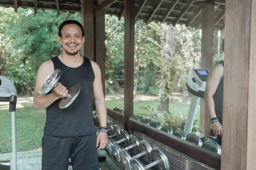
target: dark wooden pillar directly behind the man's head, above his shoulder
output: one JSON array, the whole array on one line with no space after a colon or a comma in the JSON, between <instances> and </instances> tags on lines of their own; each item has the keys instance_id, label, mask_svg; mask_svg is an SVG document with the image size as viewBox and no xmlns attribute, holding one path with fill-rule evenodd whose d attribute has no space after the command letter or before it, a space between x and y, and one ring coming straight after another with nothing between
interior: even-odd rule
<instances>
[{"instance_id":1,"label":"dark wooden pillar directly behind the man's head, above his shoulder","mask_svg":"<svg viewBox=\"0 0 256 170\"><path fill-rule=\"evenodd\" d=\"M84 26L84 57L95 61L93 0L81 0L81 19Z\"/></svg>"}]
</instances>

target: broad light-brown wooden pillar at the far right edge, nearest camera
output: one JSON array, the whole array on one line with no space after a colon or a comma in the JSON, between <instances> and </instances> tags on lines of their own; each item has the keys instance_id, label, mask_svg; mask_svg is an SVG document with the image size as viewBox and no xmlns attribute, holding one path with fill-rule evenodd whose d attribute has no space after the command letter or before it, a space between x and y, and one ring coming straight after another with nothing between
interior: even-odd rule
<instances>
[{"instance_id":1,"label":"broad light-brown wooden pillar at the far right edge, nearest camera","mask_svg":"<svg viewBox=\"0 0 256 170\"><path fill-rule=\"evenodd\" d=\"M256 167L256 0L226 0L221 170Z\"/></svg>"}]
</instances>

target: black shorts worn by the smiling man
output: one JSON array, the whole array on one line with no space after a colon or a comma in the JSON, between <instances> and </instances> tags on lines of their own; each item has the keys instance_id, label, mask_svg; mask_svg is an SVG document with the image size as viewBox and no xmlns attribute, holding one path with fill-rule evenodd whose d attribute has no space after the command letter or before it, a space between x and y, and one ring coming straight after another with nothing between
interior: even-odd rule
<instances>
[{"instance_id":1,"label":"black shorts worn by the smiling man","mask_svg":"<svg viewBox=\"0 0 256 170\"><path fill-rule=\"evenodd\" d=\"M96 133L87 136L42 137L42 170L99 170Z\"/></svg>"}]
</instances>

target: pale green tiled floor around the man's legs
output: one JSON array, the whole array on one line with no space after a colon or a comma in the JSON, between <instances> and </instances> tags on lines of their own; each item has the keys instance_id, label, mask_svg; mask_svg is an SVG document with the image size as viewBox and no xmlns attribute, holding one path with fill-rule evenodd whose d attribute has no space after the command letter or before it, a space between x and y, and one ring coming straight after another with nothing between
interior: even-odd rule
<instances>
[{"instance_id":1,"label":"pale green tiled floor around the man's legs","mask_svg":"<svg viewBox=\"0 0 256 170\"><path fill-rule=\"evenodd\" d=\"M98 154L106 156L106 161L99 163L102 170L122 170L122 164L109 156L105 150L99 150ZM41 170L41 156L41 150L18 152L17 170ZM12 153L0 154L0 160L11 160L12 167ZM68 170L72 170L72 167Z\"/></svg>"}]
</instances>

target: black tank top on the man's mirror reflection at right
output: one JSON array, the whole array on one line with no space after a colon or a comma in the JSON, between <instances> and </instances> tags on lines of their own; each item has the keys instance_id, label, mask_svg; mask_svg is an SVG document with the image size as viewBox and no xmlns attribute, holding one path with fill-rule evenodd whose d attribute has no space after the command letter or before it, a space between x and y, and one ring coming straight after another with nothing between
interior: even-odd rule
<instances>
[{"instance_id":1,"label":"black tank top on the man's mirror reflection at right","mask_svg":"<svg viewBox=\"0 0 256 170\"><path fill-rule=\"evenodd\" d=\"M224 67L224 60L217 62ZM217 64L216 63L216 64ZM215 94L213 95L215 113L219 120L222 121L222 112L223 112L223 84L224 77L221 78L221 81L218 84Z\"/></svg>"}]
</instances>

